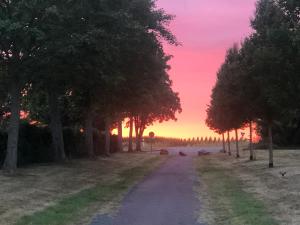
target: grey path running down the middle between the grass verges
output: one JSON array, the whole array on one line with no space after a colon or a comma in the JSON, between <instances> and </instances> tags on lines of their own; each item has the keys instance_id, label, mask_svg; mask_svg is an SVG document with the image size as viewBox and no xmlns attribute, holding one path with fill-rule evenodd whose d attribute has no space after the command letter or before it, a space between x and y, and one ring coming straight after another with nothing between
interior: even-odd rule
<instances>
[{"instance_id":1,"label":"grey path running down the middle between the grass verges","mask_svg":"<svg viewBox=\"0 0 300 225\"><path fill-rule=\"evenodd\" d=\"M196 176L191 156L174 156L127 194L115 218L97 216L91 225L200 225Z\"/></svg>"}]
</instances>

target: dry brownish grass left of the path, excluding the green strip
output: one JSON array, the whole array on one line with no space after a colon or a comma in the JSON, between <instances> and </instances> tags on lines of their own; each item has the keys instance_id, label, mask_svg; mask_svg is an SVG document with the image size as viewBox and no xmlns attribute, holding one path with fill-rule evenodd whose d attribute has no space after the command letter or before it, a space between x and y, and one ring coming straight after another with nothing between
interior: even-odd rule
<instances>
[{"instance_id":1,"label":"dry brownish grass left of the path, excluding the green strip","mask_svg":"<svg viewBox=\"0 0 300 225\"><path fill-rule=\"evenodd\" d=\"M25 215L56 207L60 202L76 195L78 195L77 197L93 195L89 191L85 193L85 190L93 190L102 184L103 186L106 184L113 186L118 182L122 184L124 182L122 173L133 168L143 168L143 165L147 164L149 160L151 165L148 165L147 169L150 171L163 158L157 158L150 154L116 154L110 158L99 158L96 161L73 160L63 165L38 165L22 168L18 170L16 176L6 176L0 173L0 224L14 224ZM130 184L133 184L138 178L140 177L132 178ZM112 186L107 188L110 189ZM86 217L81 216L81 222L77 222L85 224L93 213L109 212L114 209L120 196L109 196L109 198L105 199L105 204L102 205L91 202L82 211L82 215L86 215Z\"/></svg>"}]
</instances>

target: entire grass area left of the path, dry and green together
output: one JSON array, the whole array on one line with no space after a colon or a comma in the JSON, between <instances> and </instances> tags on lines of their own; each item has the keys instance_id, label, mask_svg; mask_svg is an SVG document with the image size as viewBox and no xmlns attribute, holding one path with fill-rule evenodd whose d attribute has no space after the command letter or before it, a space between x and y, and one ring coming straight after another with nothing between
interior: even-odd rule
<instances>
[{"instance_id":1,"label":"entire grass area left of the path, dry and green together","mask_svg":"<svg viewBox=\"0 0 300 225\"><path fill-rule=\"evenodd\" d=\"M0 173L0 224L89 224L97 213L114 213L128 189L164 159L116 154L23 168L16 176Z\"/></svg>"}]
</instances>

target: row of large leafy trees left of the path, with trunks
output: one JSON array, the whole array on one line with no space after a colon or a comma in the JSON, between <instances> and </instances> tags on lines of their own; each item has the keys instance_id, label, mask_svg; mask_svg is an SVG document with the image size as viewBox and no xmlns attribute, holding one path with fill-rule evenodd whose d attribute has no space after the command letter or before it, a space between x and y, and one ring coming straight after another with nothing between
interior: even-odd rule
<instances>
[{"instance_id":1,"label":"row of large leafy trees left of the path, with trunks","mask_svg":"<svg viewBox=\"0 0 300 225\"><path fill-rule=\"evenodd\" d=\"M93 134L102 128L109 155L110 130L118 127L121 148L125 118L137 150L148 125L175 120L180 99L162 47L177 45L172 19L154 0L1 0L3 168L17 166L20 112L49 125L57 161L66 158L63 127L81 129L94 157Z\"/></svg>"}]
</instances>

